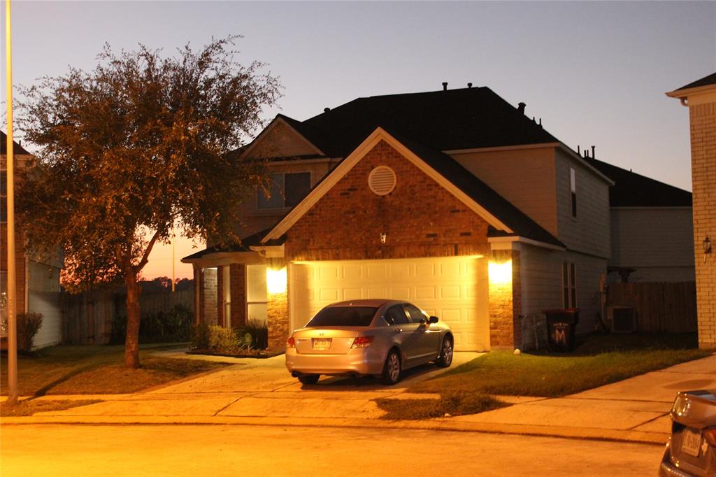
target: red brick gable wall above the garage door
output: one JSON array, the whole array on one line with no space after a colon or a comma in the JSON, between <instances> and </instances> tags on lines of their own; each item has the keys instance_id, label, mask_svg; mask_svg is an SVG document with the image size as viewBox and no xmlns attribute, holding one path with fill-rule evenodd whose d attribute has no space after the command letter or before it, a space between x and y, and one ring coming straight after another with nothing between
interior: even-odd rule
<instances>
[{"instance_id":1,"label":"red brick gable wall above the garage door","mask_svg":"<svg viewBox=\"0 0 716 477\"><path fill-rule=\"evenodd\" d=\"M387 196L368 187L378 165L397 176ZM381 141L289 229L286 259L486 255L487 231L483 218Z\"/></svg>"}]
</instances>

